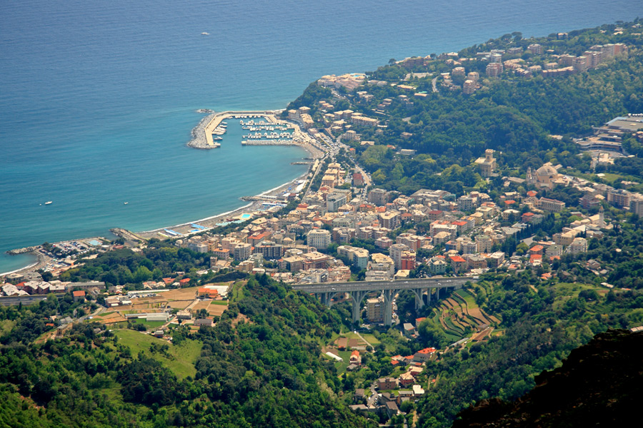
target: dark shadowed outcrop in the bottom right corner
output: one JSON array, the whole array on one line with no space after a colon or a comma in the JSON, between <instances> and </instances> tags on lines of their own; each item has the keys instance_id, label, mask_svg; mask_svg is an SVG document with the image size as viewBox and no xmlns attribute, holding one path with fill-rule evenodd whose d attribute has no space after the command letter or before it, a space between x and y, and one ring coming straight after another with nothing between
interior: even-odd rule
<instances>
[{"instance_id":1,"label":"dark shadowed outcrop in the bottom right corner","mask_svg":"<svg viewBox=\"0 0 643 428\"><path fill-rule=\"evenodd\" d=\"M640 421L643 397L643 332L599 334L535 380L516 402L482 400L461 412L453 427L632 426Z\"/></svg>"}]
</instances>

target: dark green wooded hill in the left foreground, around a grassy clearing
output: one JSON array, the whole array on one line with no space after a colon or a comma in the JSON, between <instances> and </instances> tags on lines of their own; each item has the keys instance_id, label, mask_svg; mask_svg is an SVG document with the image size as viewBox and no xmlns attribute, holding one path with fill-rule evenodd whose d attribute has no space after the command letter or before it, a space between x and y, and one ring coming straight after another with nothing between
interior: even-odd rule
<instances>
[{"instance_id":1,"label":"dark green wooded hill in the left foreground, around a grassy clearing","mask_svg":"<svg viewBox=\"0 0 643 428\"><path fill-rule=\"evenodd\" d=\"M93 323L21 343L21 325L57 304L51 296L0 311L3 325L17 320L0 346L1 427L372 426L339 401L334 367L319 358L321 340L339 331L337 313L265 275L248 280L215 327L188 334L202 349L196 376L182 380Z\"/></svg>"}]
</instances>

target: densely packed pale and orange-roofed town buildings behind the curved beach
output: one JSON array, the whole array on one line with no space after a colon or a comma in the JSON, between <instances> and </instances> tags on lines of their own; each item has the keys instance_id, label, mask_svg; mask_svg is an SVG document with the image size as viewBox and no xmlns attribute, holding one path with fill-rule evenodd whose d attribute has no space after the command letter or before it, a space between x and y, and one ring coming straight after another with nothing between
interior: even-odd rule
<instances>
[{"instance_id":1,"label":"densely packed pale and orange-roofed town buildings behind the curved beach","mask_svg":"<svg viewBox=\"0 0 643 428\"><path fill-rule=\"evenodd\" d=\"M304 126L308 110L289 111L289 118ZM341 118L350 119L351 115L340 111L333 116L341 121ZM617 118L618 121L627 119ZM359 120L358 116L357 123ZM336 122L333 126L337 126ZM638 118L627 122L640 123ZM643 123L639 128L643 129ZM212 272L267 274L295 287L422 277L445 280L447 277L468 277L475 281L489 270L532 270L538 273L540 280L547 282L556 275L550 266L562 256L587 252L592 238L608 239L604 234L614 227L611 218L617 210L643 214L643 195L623 188L639 183L622 183L615 188L566 174L564 165L552 163L545 163L536 170L528 168L524 178L508 176L503 174L502 165L490 149L472 165L482 177L497 178L502 183L502 190L506 191L495 192L495 198L481 191L454 195L447 190L421 189L403 195L374 188L369 173L349 154L351 148L342 143L347 133L342 133L342 138L332 139L332 128L324 129L325 138L321 138L314 128L309 127L309 130L317 146L327 144L326 156L311 165L311 172L303 180L285 190L281 188L276 195L264 195L254 201L256 209L244 208L232 217L213 220L216 223L189 223L155 233L119 230L116 233L127 238L121 238L119 242L93 238L80 243L40 246L36 251L48 258L49 263L39 272L28 270L5 275L1 290L7 296L3 299L7 300L3 300L3 304L31 304L49 293L73 291L74 301L89 298L101 303L94 305L96 309L91 312L92 319L101 324L119 326L143 320L154 326L150 335L171 338L164 330L172 324L194 328L212 325L226 310L227 296L234 282L215 284L200 279ZM403 150L395 156L414 156ZM338 162L334 156L343 161ZM582 197L569 206L562 200L543 195L551 190L582 194ZM604 208L607 207L612 215L606 217ZM562 213L567 214L567 224L559 233L549 235L542 225L547 219L560 218ZM221 228L229 231L219 233ZM138 291L99 281L56 279L66 270L83 265L84 258L91 260L99 253L123 248L140 252L150 238L170 239L177 248L208 254L209 266L190 273L176 271L159 281L143 281ZM601 278L606 290L614 287L606 279L609 266L590 260L586 268ZM427 303L437 300L439 290L434 291L427 289L426 294L418 298ZM333 294L330 305L352 298L349 293ZM12 297L21 299L9 300ZM359 322L367 326L365 330L362 327L364 331L377 325L399 323L400 332L407 340L417 338L420 323L426 317L400 322L394 300L385 302L382 292L377 291L363 297L364 301L358 305ZM497 317L484 313L476 305L467 306L470 297L469 292L462 290L449 298L449 310L457 307L461 319L447 315L447 320L457 324L449 323L453 327L445 324L445 330L454 337L462 337L455 344L458 347L469 341L487 340L499 325ZM392 320L385 319L387 304L392 305ZM432 313L440 314L441 310L439 307ZM439 316L442 320L444 314ZM51 321L59 323L56 335L64 335L74 322L69 317ZM462 327L457 325L468 325L469 335L462 335ZM361 339L351 340L351 343L339 340L330 344L326 352L329 358L342 365L348 357L348 372L359 370L364 352L372 350L374 345ZM346 355L347 350L350 355ZM416 378L422 373L424 362L438 355L436 352L436 348L429 347L414 355L393 355L394 375L377 379L370 389L356 389L352 408L387 417L398 414L400 407L406 407L405 402L413 402L424 394L424 387L430 387L430 384L417 384Z\"/></svg>"}]
</instances>

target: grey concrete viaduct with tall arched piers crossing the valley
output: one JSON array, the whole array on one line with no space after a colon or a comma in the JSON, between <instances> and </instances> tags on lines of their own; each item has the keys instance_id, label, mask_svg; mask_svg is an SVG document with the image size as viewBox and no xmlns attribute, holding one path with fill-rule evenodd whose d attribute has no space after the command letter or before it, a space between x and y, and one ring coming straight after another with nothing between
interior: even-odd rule
<instances>
[{"instance_id":1,"label":"grey concrete viaduct with tall arched piers crossing the valley","mask_svg":"<svg viewBox=\"0 0 643 428\"><path fill-rule=\"evenodd\" d=\"M359 311L362 309L362 300L369 292L382 291L384 295L384 322L391 325L393 321L393 299L402 290L411 290L415 295L415 307L424 306L424 292L431 301L431 290L435 289L436 298L439 299L440 290L457 290L465 282L477 282L477 277L431 277L408 280L389 281L354 281L354 282L324 282L322 284L294 285L293 290L314 293L321 303L331 307L333 297L339 293L348 293L353 302L353 322L359 320ZM444 294L444 293L443 293Z\"/></svg>"}]
</instances>

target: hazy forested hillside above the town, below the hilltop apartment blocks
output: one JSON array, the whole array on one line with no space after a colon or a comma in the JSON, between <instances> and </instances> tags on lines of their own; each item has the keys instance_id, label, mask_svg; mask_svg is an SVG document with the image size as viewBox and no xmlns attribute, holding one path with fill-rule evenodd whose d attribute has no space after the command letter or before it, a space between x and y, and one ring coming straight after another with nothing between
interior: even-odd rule
<instances>
[{"instance_id":1,"label":"hazy forested hillside above the town, below the hilltop apartment blocks","mask_svg":"<svg viewBox=\"0 0 643 428\"><path fill-rule=\"evenodd\" d=\"M385 128L357 127L361 140L374 141L375 146L362 146L359 141L347 144L360 156L377 185L402 193L419 188L447 188L453 192L449 185L454 182L461 183L460 188L484 185L470 164L487 148L501 151L499 161L519 168L522 173L527 166L542 165L549 161L548 156L557 158L561 154L568 165L589 169L589 161L577 156L580 150L572 138L591 134L592 126L600 126L615 116L643 112L643 39L630 33L612 34L614 28L606 25L572 31L564 40L556 35L538 39L506 35L459 53L475 57L479 51L526 49L534 43L557 55L582 54L595 44L624 43L629 47L627 58L612 58L570 76L487 78L486 62L466 61L462 65L467 71L479 71L482 88L472 94L444 88L436 92L432 90L433 79L439 78L439 73L451 71L453 66L440 60L424 66L409 66L402 61L367 73L367 81L353 92L342 94L339 101L327 89L313 83L288 108L309 106L313 117L322 121L318 102L333 101L336 110L350 108L378 118ZM523 57L538 59L528 51ZM416 77L411 73L427 76ZM400 89L400 85L410 86L422 96L414 96L412 91ZM372 98L357 96L359 91ZM384 100L391 101L382 110ZM402 137L402 133L407 134ZM634 138L625 141L624 147L629 153L643 153L641 143ZM413 159L394 156L400 148L413 149L422 155ZM454 165L464 169L458 170ZM446 177L434 175L445 168L451 168L445 171ZM619 170L619 165L613 168ZM454 169L455 174L451 173Z\"/></svg>"}]
</instances>

